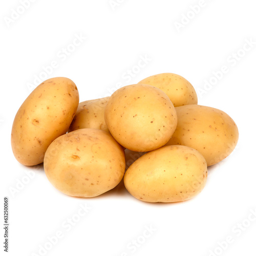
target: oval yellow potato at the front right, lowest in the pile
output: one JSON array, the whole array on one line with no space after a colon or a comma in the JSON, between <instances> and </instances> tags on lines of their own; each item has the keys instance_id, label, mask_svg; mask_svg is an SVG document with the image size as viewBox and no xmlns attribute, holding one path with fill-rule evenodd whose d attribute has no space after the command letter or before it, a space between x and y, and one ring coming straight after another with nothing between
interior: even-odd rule
<instances>
[{"instance_id":1,"label":"oval yellow potato at the front right, lowest in the pile","mask_svg":"<svg viewBox=\"0 0 256 256\"><path fill-rule=\"evenodd\" d=\"M194 148L163 146L136 160L124 175L124 185L145 202L179 202L195 197L204 188L207 165Z\"/></svg>"}]
</instances>

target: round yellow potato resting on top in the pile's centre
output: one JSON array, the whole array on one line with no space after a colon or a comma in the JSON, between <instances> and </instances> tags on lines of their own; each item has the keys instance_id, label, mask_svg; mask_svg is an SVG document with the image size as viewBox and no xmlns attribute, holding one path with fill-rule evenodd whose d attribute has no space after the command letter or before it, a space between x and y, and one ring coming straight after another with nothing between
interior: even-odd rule
<instances>
[{"instance_id":1,"label":"round yellow potato resting on top in the pile's centre","mask_svg":"<svg viewBox=\"0 0 256 256\"><path fill-rule=\"evenodd\" d=\"M132 84L115 91L105 107L105 121L113 137L125 148L147 152L172 137L177 114L160 89Z\"/></svg>"}]
</instances>

